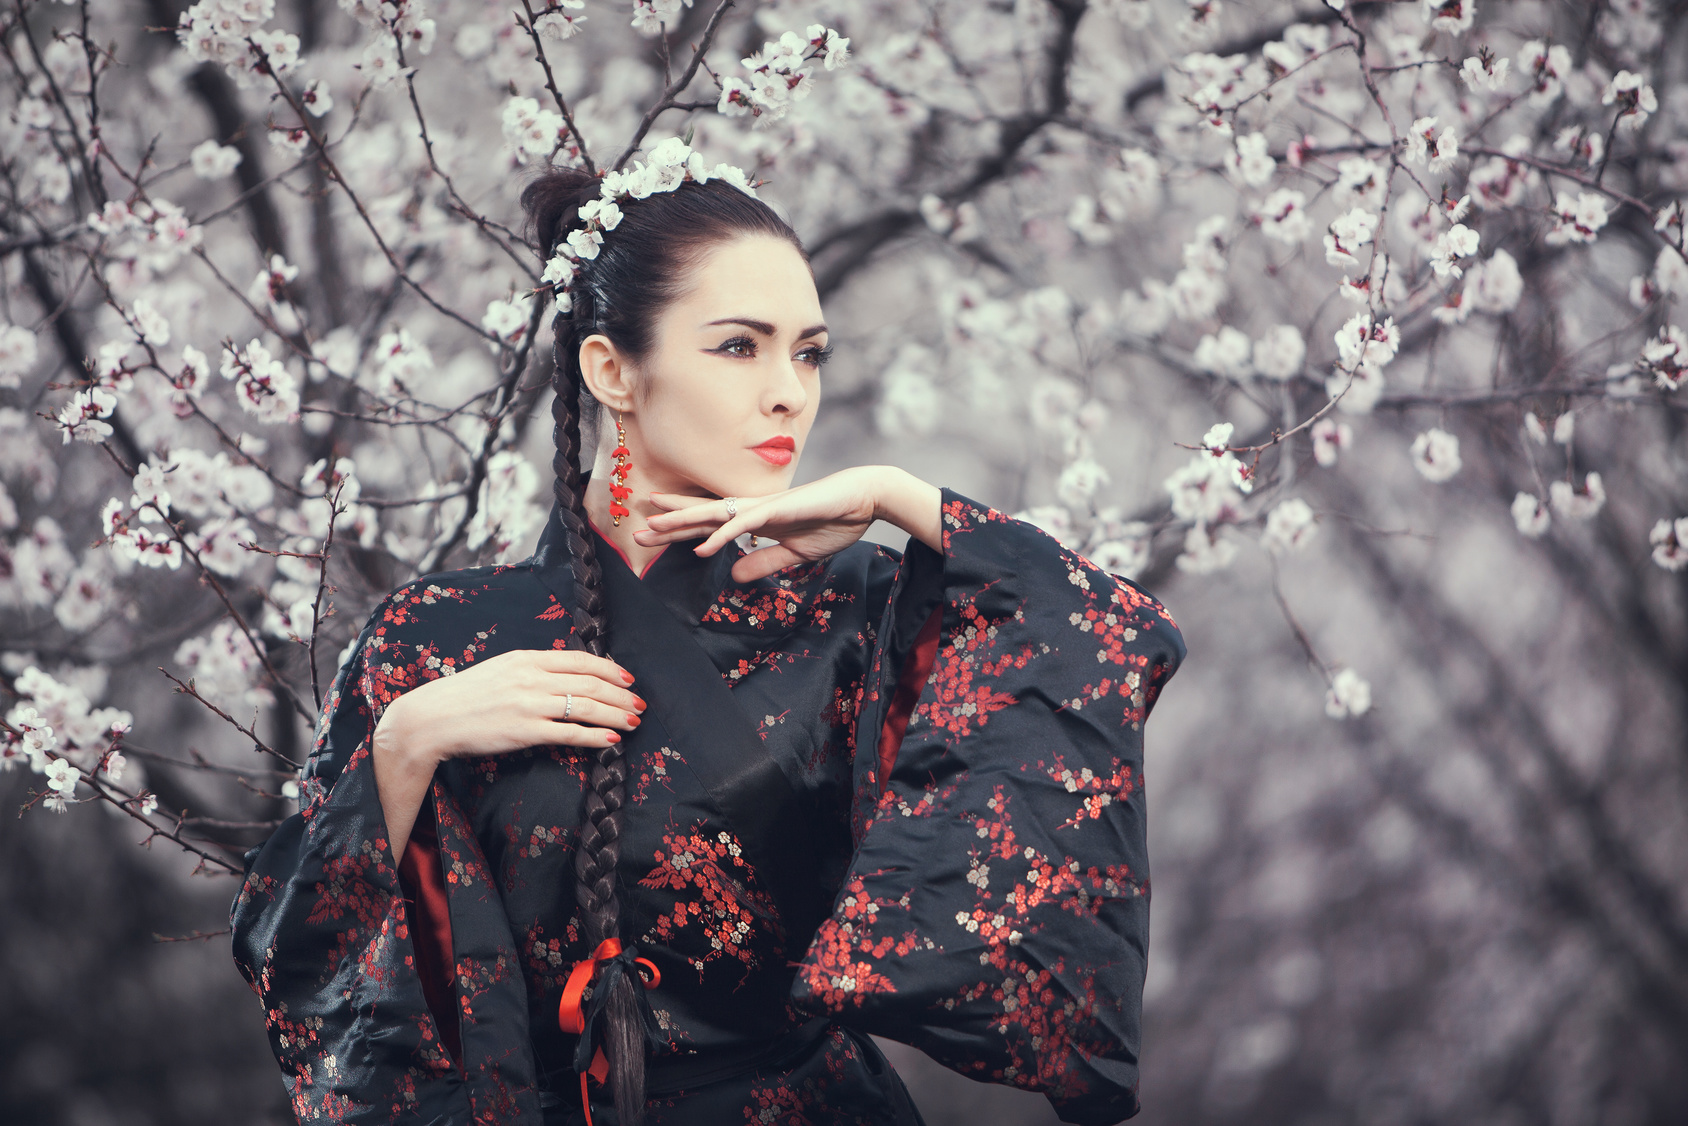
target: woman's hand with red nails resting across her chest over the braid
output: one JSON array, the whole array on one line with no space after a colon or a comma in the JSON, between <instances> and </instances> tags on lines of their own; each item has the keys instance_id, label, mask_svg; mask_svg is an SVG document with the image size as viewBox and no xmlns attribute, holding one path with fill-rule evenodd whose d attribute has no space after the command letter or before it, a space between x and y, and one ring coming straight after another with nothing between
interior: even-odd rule
<instances>
[{"instance_id":1,"label":"woman's hand with red nails resting across her chest over the braid","mask_svg":"<svg viewBox=\"0 0 1688 1126\"><path fill-rule=\"evenodd\" d=\"M645 701L630 684L633 674L582 650L498 653L388 704L375 750L439 763L528 746L604 746L640 724Z\"/></svg>"}]
</instances>

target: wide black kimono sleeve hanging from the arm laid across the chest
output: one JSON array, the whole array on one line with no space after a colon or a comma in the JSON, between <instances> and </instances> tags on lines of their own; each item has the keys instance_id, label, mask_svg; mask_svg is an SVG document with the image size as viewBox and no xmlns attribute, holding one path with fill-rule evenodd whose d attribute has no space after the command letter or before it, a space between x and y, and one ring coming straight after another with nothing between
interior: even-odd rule
<instances>
[{"instance_id":1,"label":"wide black kimono sleeve hanging from the arm laid across the chest","mask_svg":"<svg viewBox=\"0 0 1688 1126\"><path fill-rule=\"evenodd\" d=\"M439 675L414 628L424 601L427 587L390 596L336 675L304 807L246 854L235 961L300 1123L537 1126L525 988L468 819L436 778L403 868L387 839L371 733Z\"/></svg>"}]
</instances>

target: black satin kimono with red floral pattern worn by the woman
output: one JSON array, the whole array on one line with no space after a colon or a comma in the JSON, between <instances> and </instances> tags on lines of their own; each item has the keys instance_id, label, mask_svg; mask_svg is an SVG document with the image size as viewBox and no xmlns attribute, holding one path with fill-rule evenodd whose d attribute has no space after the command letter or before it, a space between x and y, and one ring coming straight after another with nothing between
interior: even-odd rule
<instances>
[{"instance_id":1,"label":"black satin kimono with red floral pattern worn by the woman","mask_svg":"<svg viewBox=\"0 0 1688 1126\"><path fill-rule=\"evenodd\" d=\"M235 957L302 1123L584 1121L559 1003L584 947L579 748L454 758L402 863L370 733L402 692L567 648L555 517L527 562L412 582L326 701L304 809L246 858ZM596 533L596 532L594 532ZM621 935L662 974L648 1118L918 1123L869 1033L1065 1121L1138 1111L1143 723L1160 603L944 490L944 552L858 542L749 584L599 535L625 734ZM592 1085L598 1126L614 1121Z\"/></svg>"}]
</instances>

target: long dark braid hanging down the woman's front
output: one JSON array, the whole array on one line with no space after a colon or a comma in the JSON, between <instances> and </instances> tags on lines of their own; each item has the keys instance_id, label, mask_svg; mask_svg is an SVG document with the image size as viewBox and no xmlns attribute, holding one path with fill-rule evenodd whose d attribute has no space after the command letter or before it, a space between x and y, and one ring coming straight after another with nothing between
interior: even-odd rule
<instances>
[{"instance_id":1,"label":"long dark braid hanging down the woman's front","mask_svg":"<svg viewBox=\"0 0 1688 1126\"><path fill-rule=\"evenodd\" d=\"M584 295L582 295L584 297ZM598 564L598 545L586 522L586 498L581 486L581 356L579 343L591 314L576 306L574 316L559 314L552 326L555 375L552 376L552 457L557 513L569 539L574 572L574 596L579 618L576 631L587 652L604 655L604 579ZM616 893L616 864L621 859L621 822L626 804L626 756L621 743L596 751L587 777L581 810L581 837L574 847L574 898L581 907L586 947L598 949L604 939L621 934L621 896ZM609 1087L616 1118L625 1126L640 1126L645 1118L645 1033L638 998L628 976L614 977L608 1003L604 1053L609 1058Z\"/></svg>"}]
</instances>

